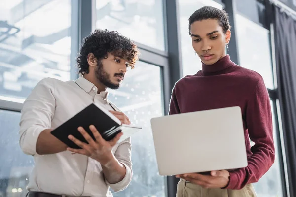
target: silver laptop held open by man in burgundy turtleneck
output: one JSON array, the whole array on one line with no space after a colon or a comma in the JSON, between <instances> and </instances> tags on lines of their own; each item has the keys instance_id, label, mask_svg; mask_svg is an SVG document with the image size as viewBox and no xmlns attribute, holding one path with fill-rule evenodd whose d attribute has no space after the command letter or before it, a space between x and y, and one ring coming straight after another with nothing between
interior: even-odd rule
<instances>
[{"instance_id":1,"label":"silver laptop held open by man in burgundy turtleneck","mask_svg":"<svg viewBox=\"0 0 296 197\"><path fill-rule=\"evenodd\" d=\"M151 127L160 175L248 165L240 107L152 118Z\"/></svg>"}]
</instances>

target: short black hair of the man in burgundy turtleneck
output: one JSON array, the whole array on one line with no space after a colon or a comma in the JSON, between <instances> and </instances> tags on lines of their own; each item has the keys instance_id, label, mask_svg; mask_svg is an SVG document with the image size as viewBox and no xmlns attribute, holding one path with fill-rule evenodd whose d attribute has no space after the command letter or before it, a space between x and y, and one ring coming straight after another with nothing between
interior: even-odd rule
<instances>
[{"instance_id":1,"label":"short black hair of the man in burgundy turtleneck","mask_svg":"<svg viewBox=\"0 0 296 197\"><path fill-rule=\"evenodd\" d=\"M231 28L228 14L224 10L217 9L212 6L204 6L196 10L189 17L189 35L191 35L191 24L195 21L201 21L205 19L217 19L224 33L226 33L227 30L230 30Z\"/></svg>"}]
</instances>

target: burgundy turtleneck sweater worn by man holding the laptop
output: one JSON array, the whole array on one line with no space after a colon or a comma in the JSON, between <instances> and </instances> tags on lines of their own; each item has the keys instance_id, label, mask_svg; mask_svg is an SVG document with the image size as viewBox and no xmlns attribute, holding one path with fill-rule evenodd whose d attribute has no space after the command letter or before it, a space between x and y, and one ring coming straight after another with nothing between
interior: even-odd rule
<instances>
[{"instance_id":1,"label":"burgundy turtleneck sweater worn by man holding the laptop","mask_svg":"<svg viewBox=\"0 0 296 197\"><path fill-rule=\"evenodd\" d=\"M263 78L235 65L229 55L213 65L202 64L202 70L175 84L169 114L232 106L242 110L248 166L230 172L226 189L242 189L257 182L275 159L271 107ZM252 147L249 137L255 142Z\"/></svg>"}]
</instances>

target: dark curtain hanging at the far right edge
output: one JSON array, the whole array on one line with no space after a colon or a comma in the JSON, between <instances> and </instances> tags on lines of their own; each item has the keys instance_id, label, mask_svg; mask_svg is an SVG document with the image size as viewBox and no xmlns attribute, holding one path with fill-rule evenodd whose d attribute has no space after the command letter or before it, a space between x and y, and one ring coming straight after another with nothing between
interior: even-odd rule
<instances>
[{"instance_id":1,"label":"dark curtain hanging at the far right edge","mask_svg":"<svg viewBox=\"0 0 296 197\"><path fill-rule=\"evenodd\" d=\"M296 20L273 5L278 96L290 196L296 197Z\"/></svg>"}]
</instances>

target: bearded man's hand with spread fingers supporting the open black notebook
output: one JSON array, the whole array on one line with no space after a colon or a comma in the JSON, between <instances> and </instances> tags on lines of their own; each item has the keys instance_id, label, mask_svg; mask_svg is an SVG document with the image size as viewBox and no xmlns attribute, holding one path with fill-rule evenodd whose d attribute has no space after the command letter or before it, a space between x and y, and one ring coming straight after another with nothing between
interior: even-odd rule
<instances>
[{"instance_id":1,"label":"bearded man's hand with spread fingers supporting the open black notebook","mask_svg":"<svg viewBox=\"0 0 296 197\"><path fill-rule=\"evenodd\" d=\"M114 159L112 148L115 146L123 133L120 132L112 140L106 141L102 138L95 126L91 125L89 126L89 129L92 131L96 141L94 141L82 127L78 127L78 131L83 135L88 144L81 142L73 135L69 135L68 138L82 149L67 148L67 150L86 155L94 160L97 160L102 166L108 165Z\"/></svg>"}]
</instances>

